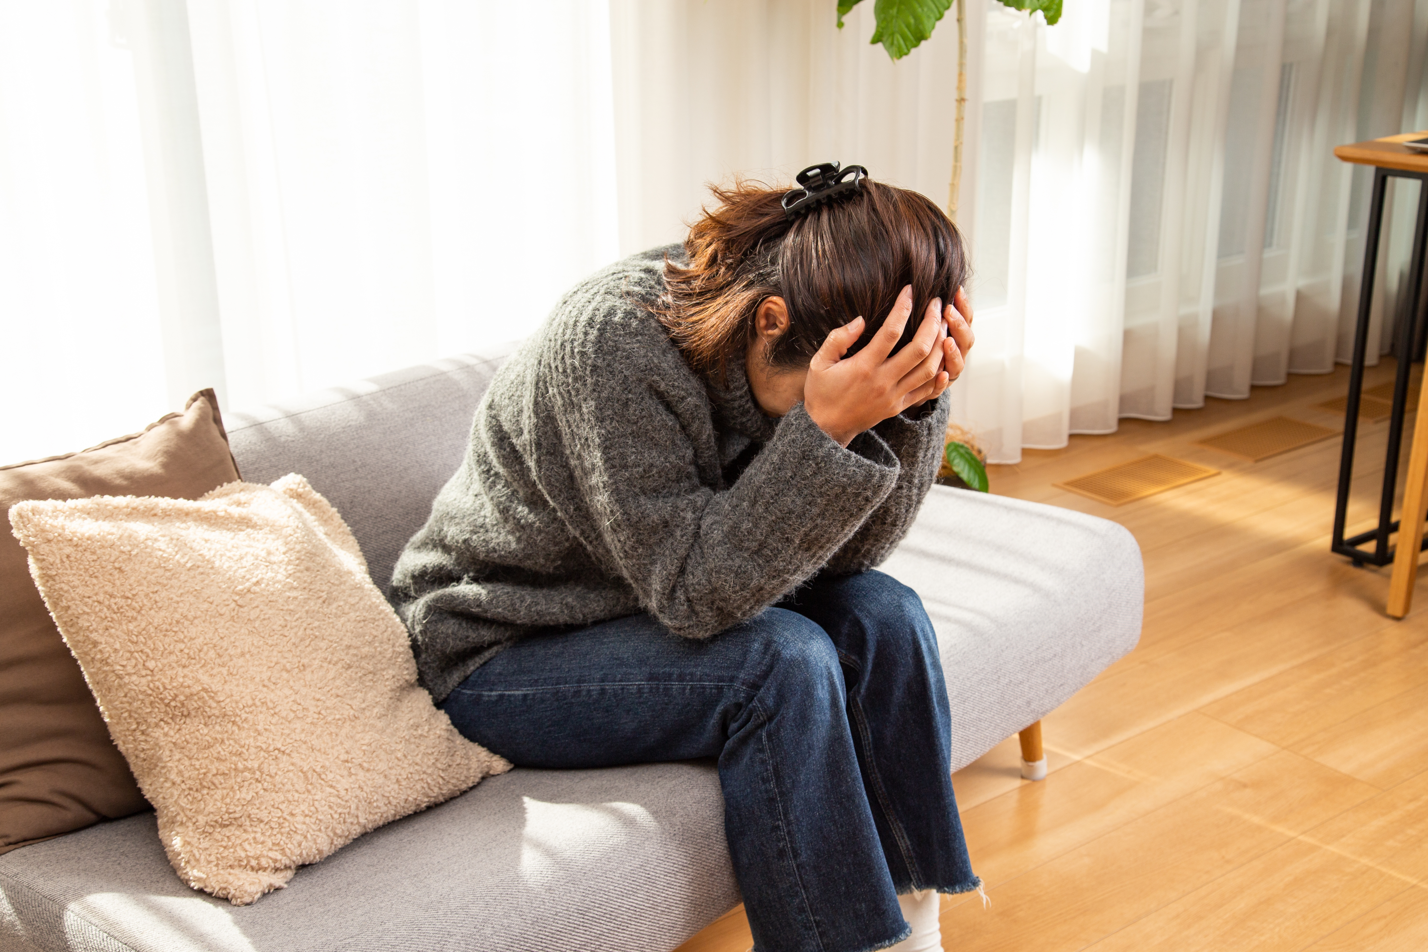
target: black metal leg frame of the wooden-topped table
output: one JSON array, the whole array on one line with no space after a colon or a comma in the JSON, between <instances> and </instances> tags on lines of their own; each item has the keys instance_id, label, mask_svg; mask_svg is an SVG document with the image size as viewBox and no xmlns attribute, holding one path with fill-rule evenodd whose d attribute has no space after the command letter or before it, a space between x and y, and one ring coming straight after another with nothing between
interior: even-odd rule
<instances>
[{"instance_id":1,"label":"black metal leg frame of the wooden-topped table","mask_svg":"<svg viewBox=\"0 0 1428 952\"><path fill-rule=\"evenodd\" d=\"M1384 492L1378 507L1378 527L1344 538L1344 524L1348 518L1348 491L1354 478L1354 440L1358 435L1359 390L1364 385L1364 358L1368 350L1368 315L1374 301L1374 278L1378 268L1379 228L1384 224L1384 197L1389 178L1418 180L1418 223L1414 228L1414 254L1408 265L1409 307L1408 315L1394 328L1394 353L1398 355L1398 374L1394 377L1394 408L1388 420L1388 457L1384 460ZM1424 244L1428 241L1428 173L1404 171L1401 168L1374 167L1374 197L1368 207L1368 234L1364 236L1364 275L1358 291L1358 325L1354 328L1354 361L1348 374L1348 405L1344 408L1344 451L1339 457L1338 501L1334 505L1332 550L1348 555L1355 565L1365 562L1387 565L1394 561L1394 550L1388 537L1398 531L1394 518L1394 491L1398 488L1398 452L1404 440L1404 412L1408 404L1408 375L1418 337L1418 304L1422 298ZM1421 408L1428 412L1428 407ZM1374 550L1359 548L1372 541ZM1424 538L1428 550L1428 538Z\"/></svg>"}]
</instances>

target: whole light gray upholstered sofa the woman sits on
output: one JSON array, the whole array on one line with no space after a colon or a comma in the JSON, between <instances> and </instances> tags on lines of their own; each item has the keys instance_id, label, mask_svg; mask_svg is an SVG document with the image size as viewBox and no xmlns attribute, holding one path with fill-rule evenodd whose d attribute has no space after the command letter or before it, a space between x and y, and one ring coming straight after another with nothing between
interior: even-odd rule
<instances>
[{"instance_id":1,"label":"whole light gray upholstered sofa the woman sits on","mask_svg":"<svg viewBox=\"0 0 1428 952\"><path fill-rule=\"evenodd\" d=\"M306 475L384 585L456 470L501 358L230 414L234 457L248 481ZM934 487L884 569L921 594L937 625L954 768L1048 714L1140 635L1140 550L1120 525L1078 512ZM243 908L178 881L153 814L13 851L0 856L0 949L653 952L737 902L711 764L518 768Z\"/></svg>"}]
</instances>

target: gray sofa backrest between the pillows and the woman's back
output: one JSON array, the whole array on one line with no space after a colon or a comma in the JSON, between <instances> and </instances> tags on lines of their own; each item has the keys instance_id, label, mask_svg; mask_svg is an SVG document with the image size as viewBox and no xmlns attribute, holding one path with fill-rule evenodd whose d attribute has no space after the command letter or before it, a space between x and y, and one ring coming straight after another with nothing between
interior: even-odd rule
<instances>
[{"instance_id":1,"label":"gray sofa backrest between the pillows and the woman's back","mask_svg":"<svg viewBox=\"0 0 1428 952\"><path fill-rule=\"evenodd\" d=\"M230 412L233 455L250 482L307 477L347 520L373 581L386 591L401 547L461 464L476 404L511 350Z\"/></svg>"}]
</instances>

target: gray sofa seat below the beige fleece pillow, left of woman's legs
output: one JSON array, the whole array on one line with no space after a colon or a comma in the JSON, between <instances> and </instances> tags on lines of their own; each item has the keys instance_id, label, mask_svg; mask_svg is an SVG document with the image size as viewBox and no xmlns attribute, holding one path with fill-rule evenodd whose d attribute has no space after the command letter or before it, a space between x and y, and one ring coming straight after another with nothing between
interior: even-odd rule
<instances>
[{"instance_id":1,"label":"gray sofa seat below the beige fleece pillow, left of woman's legs","mask_svg":"<svg viewBox=\"0 0 1428 952\"><path fill-rule=\"evenodd\" d=\"M514 769L251 906L186 889L151 814L0 856L7 952L660 952L737 902L704 762Z\"/></svg>"}]
</instances>

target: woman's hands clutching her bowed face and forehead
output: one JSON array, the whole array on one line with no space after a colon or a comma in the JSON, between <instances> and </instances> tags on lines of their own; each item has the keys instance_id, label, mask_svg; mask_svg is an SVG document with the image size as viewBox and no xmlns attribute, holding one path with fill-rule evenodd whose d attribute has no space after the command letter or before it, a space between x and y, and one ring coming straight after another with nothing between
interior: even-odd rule
<instances>
[{"instance_id":1,"label":"woman's hands clutching her bowed face and forehead","mask_svg":"<svg viewBox=\"0 0 1428 952\"><path fill-rule=\"evenodd\" d=\"M960 308L967 297L958 290ZM971 347L971 324L965 311L942 308L940 300L928 304L921 327L907 347L892 357L912 315L912 288L902 288L887 320L868 345L843 360L863 334L864 320L834 330L808 364L804 383L804 408L818 428L838 445L847 447L855 435L895 417L908 407L941 395L962 373L962 343ZM948 358L955 355L952 363Z\"/></svg>"}]
</instances>

